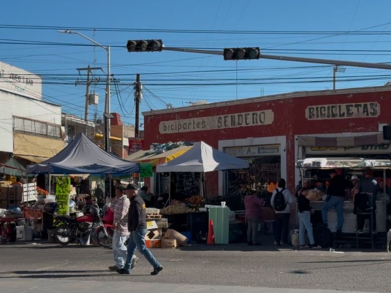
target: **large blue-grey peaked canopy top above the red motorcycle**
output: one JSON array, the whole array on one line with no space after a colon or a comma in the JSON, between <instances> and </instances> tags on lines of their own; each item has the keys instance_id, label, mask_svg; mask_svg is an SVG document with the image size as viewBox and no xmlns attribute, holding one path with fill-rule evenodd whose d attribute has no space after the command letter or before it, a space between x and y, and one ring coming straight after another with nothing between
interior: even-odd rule
<instances>
[{"instance_id":1,"label":"large blue-grey peaked canopy top above the red motorcycle","mask_svg":"<svg viewBox=\"0 0 391 293\"><path fill-rule=\"evenodd\" d=\"M27 166L27 173L41 174L129 174L140 171L140 165L120 159L95 145L84 133L54 157Z\"/></svg>"}]
</instances>

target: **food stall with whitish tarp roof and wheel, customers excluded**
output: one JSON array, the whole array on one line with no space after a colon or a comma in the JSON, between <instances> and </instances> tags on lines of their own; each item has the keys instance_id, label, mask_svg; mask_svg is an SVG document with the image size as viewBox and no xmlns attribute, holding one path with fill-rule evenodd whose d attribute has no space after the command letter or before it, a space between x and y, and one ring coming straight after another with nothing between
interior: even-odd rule
<instances>
[{"instance_id":1,"label":"food stall with whitish tarp roof and wheel, customers excluded","mask_svg":"<svg viewBox=\"0 0 391 293\"><path fill-rule=\"evenodd\" d=\"M302 175L302 185L310 188L310 200L311 207L315 210L315 215L312 216L311 221L315 224L314 236L319 245L329 246L332 245L332 241L335 238L332 233L336 232L337 215L335 209L328 211L328 230L317 226L317 223L322 223L321 210L326 201L326 186L328 183L328 173L330 169L341 169L341 176L344 177L346 183L345 189L345 203L344 203L344 225L342 228L342 234L338 235L341 241L348 241L351 238L354 241L358 240L365 242L370 240L376 242L385 243L386 232L390 229L390 219L387 213L388 205L390 202L390 195L387 194L389 188L387 182L390 174L388 170L391 168L391 161L388 159L362 159L362 158L306 158L304 160L298 160L296 166L300 169ZM378 193L376 200L376 221L377 221L377 234L372 237L361 237L357 235L356 214L354 214L354 202L352 191L353 185L349 185L352 176L361 179L364 177L364 173L367 169L374 171L374 179L378 182L382 191ZM297 209L297 207L296 207ZM295 221L296 227L298 227L298 218ZM369 234L369 221L367 221L364 227L364 234ZM360 236L360 239L358 238ZM344 239L345 237L345 239ZM368 239L366 239L368 238ZM375 238L375 239L373 239Z\"/></svg>"}]
</instances>

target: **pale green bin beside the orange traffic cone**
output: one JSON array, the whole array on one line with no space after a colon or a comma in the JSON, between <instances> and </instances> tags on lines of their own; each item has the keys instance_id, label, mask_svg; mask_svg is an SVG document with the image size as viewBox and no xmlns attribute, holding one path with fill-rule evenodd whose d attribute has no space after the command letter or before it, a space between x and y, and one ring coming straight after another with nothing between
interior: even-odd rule
<instances>
[{"instance_id":1,"label":"pale green bin beside the orange traffic cone","mask_svg":"<svg viewBox=\"0 0 391 293\"><path fill-rule=\"evenodd\" d=\"M213 223L216 244L229 242L229 209L228 207L209 208L209 220Z\"/></svg>"}]
</instances>

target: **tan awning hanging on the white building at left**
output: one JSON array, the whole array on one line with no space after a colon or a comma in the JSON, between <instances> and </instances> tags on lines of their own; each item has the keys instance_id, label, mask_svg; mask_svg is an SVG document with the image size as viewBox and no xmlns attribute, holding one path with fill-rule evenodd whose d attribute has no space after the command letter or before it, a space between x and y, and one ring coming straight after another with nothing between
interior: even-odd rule
<instances>
[{"instance_id":1,"label":"tan awning hanging on the white building at left","mask_svg":"<svg viewBox=\"0 0 391 293\"><path fill-rule=\"evenodd\" d=\"M18 156L35 156L48 159L63 148L63 140L14 133L14 154Z\"/></svg>"}]
</instances>

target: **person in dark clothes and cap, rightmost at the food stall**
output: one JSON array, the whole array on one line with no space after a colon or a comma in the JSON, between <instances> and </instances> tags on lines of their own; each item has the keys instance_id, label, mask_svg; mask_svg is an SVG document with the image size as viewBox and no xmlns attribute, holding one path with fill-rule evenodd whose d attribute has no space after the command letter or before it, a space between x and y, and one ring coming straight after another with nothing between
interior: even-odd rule
<instances>
[{"instance_id":1,"label":"person in dark clothes and cap, rightmost at the food stall","mask_svg":"<svg viewBox=\"0 0 391 293\"><path fill-rule=\"evenodd\" d=\"M377 183L377 181L373 178L373 170L368 169L365 172L365 178L360 180L358 184L354 188L354 197L357 201L364 200L365 203L364 205L367 206L367 203L369 205L368 208L371 208L372 212L372 218L373 218L373 223L372 223L372 233L376 234L376 198L377 198L377 193L380 190L380 186ZM368 194L370 193L371 196L369 197L370 200L368 200ZM356 198L357 197L357 198ZM357 201L354 201L355 203ZM362 215L358 214L357 215L357 233L363 233L363 228L365 224L365 219L369 218L370 215Z\"/></svg>"}]
</instances>

